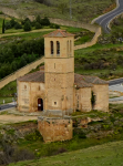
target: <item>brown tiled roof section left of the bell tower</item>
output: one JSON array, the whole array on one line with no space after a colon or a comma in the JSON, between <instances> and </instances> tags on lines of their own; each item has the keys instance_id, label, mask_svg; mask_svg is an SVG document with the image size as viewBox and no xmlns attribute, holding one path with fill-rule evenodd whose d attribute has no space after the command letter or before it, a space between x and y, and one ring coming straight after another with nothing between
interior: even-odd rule
<instances>
[{"instance_id":1,"label":"brown tiled roof section left of the bell tower","mask_svg":"<svg viewBox=\"0 0 123 166\"><path fill-rule=\"evenodd\" d=\"M42 82L44 83L44 72L38 71L34 73L27 74L18 79L18 81L22 82Z\"/></svg>"}]
</instances>

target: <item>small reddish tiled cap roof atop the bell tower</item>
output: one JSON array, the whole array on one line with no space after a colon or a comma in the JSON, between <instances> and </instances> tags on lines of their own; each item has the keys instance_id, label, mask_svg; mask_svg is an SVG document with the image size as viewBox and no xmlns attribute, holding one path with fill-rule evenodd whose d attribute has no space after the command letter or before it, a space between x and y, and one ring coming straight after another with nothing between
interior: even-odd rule
<instances>
[{"instance_id":1,"label":"small reddish tiled cap roof atop the bell tower","mask_svg":"<svg viewBox=\"0 0 123 166\"><path fill-rule=\"evenodd\" d=\"M44 34L44 38L54 38L54 37L62 37L62 38L66 38L66 37L74 37L74 34L66 32L65 30L61 30L58 29L49 34Z\"/></svg>"}]
</instances>

